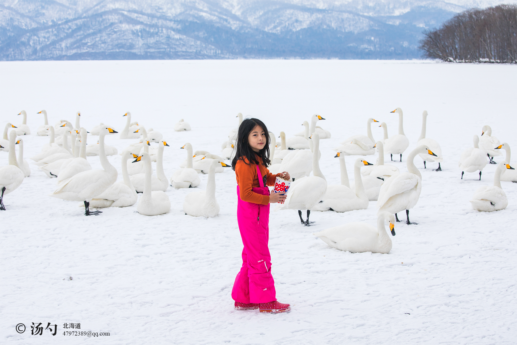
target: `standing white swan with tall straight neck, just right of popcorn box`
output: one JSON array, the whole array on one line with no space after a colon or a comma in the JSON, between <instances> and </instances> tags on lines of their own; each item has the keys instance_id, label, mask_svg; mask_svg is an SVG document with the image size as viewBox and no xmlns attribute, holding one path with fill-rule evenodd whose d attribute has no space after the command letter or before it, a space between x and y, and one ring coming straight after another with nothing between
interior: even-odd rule
<instances>
[{"instance_id":1,"label":"standing white swan with tall straight neck, just right of popcorn box","mask_svg":"<svg viewBox=\"0 0 517 345\"><path fill-rule=\"evenodd\" d=\"M297 178L287 193L287 198L283 204L278 204L275 211L279 209L297 209L300 221L306 227L310 226L309 216L311 209L320 201L327 191L327 180L320 170L318 161L318 151L320 151L320 136L317 133L311 136L314 152L312 153L312 173L313 176ZM307 220L301 217L301 210L307 209Z\"/></svg>"}]
</instances>

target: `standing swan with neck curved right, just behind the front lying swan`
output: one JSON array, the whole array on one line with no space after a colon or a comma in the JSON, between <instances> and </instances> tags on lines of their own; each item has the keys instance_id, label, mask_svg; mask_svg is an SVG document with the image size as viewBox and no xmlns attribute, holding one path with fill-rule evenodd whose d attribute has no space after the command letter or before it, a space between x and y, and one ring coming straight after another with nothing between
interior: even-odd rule
<instances>
[{"instance_id":1,"label":"standing swan with neck curved right, just behind the front lying swan","mask_svg":"<svg viewBox=\"0 0 517 345\"><path fill-rule=\"evenodd\" d=\"M406 210L406 223L417 224L409 221L409 209L413 208L420 198L422 190L422 175L415 167L413 160L419 153L427 153L435 156L435 154L424 145L418 146L407 156L406 173L391 176L384 181L379 193L377 201L377 214L381 212L394 213L395 218L399 221L397 213Z\"/></svg>"}]
</instances>

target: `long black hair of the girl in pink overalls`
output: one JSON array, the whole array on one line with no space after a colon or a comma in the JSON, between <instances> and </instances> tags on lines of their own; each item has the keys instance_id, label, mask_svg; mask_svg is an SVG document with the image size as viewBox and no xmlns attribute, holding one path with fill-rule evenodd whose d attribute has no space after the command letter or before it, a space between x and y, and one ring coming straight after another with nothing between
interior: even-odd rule
<instances>
[{"instance_id":1,"label":"long black hair of the girl in pink overalls","mask_svg":"<svg viewBox=\"0 0 517 345\"><path fill-rule=\"evenodd\" d=\"M255 126L260 126L266 133L266 144L264 148L261 149L258 153L253 151L250 144L248 143L248 136ZM232 169L235 170L235 166L238 160L244 160L243 157L246 157L249 161L247 164L259 164L255 155L260 156L262 158L262 162L264 166L267 168L271 161L269 160L269 132L267 131L266 125L258 118L247 118L239 126L239 131L237 133L237 144L235 146L235 157L232 159Z\"/></svg>"}]
</instances>

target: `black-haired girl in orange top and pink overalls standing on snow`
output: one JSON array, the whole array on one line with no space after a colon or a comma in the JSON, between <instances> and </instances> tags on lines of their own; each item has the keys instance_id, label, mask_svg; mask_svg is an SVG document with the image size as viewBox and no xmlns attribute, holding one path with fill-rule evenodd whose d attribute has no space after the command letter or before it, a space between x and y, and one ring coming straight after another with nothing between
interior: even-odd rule
<instances>
[{"instance_id":1,"label":"black-haired girl in orange top and pink overalls standing on snow","mask_svg":"<svg viewBox=\"0 0 517 345\"><path fill-rule=\"evenodd\" d=\"M288 172L276 175L267 170L269 134L257 118L245 119L237 133L236 155L232 169L237 178L237 223L242 237L242 267L235 278L232 298L236 310L260 309L261 312L288 312L291 306L277 301L271 276L269 240L269 204L285 200L272 193L277 176L290 179Z\"/></svg>"}]
</instances>

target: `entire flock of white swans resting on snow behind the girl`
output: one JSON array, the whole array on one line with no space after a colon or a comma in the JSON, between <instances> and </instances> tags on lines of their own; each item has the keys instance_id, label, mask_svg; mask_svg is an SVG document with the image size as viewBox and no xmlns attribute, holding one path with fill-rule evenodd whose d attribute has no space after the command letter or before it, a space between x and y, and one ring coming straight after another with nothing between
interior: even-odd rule
<instances>
[{"instance_id":1,"label":"entire flock of white swans resting on snow behind the girl","mask_svg":"<svg viewBox=\"0 0 517 345\"><path fill-rule=\"evenodd\" d=\"M357 134L349 137L336 148L341 169L341 184L327 185L325 176L320 169L320 140L330 138L329 131L317 126L324 118L313 115L311 123L304 122L305 129L292 138L285 138L280 132L280 143L276 136L270 133L272 173L288 171L293 182L287 193L285 203L277 204L276 210L295 209L298 211L302 224L309 226L310 212L335 211L347 212L356 209L366 209L369 201L377 201L377 227L367 223L352 222L343 226L326 229L314 235L320 237L329 246L351 252L388 253L391 250L391 238L388 235L385 222L389 222L392 235L394 223L399 221L398 213L406 211L406 223L409 221L409 209L413 208L420 197L422 176L414 164L418 155L422 158L424 168L426 162L437 162L437 171L442 170L442 150L437 141L426 138L428 112L422 113L422 131L417 147L407 155L407 172L400 172L397 167L385 164L384 155L390 154L391 160L396 155L397 160L409 146L409 140L404 134L402 109L397 108L391 113L399 116L398 134L388 136L386 123L379 127L384 130L383 140L375 141L371 125L378 123L373 118L367 121L367 135ZM219 214L219 204L216 200L216 173L229 167L224 161L233 158L238 127L232 129L228 139L222 143L221 155L207 151L192 152L192 145L186 143L187 158L179 164L171 178L163 171L163 149L169 146L163 140L162 134L149 128L131 122L131 113L127 112L126 125L119 133L120 139L136 139L120 154L121 173L123 181L117 182L118 172L108 160L108 156L118 154L115 147L105 145L107 135L118 133L113 126L103 123L93 127L89 132L80 125L81 113L75 116L75 126L66 120L59 121L55 126L48 124L47 112L40 111L44 116L44 124L39 126L38 136L49 136L49 143L41 147L41 152L31 159L50 178L55 177L56 189L51 197L84 203L85 215L96 215L101 211L90 211L90 207L126 207L138 201L137 211L142 215L154 216L168 213L171 209L169 196L165 191L170 187L194 188L200 184L199 174L208 174L206 190L194 190L187 194L184 201L184 212L199 217L215 217ZM27 126L27 114L21 111L23 122L19 125L7 123L3 138L0 139L0 151L8 153L8 165L0 168L0 209L5 210L3 199L16 190L24 178L31 175L28 162L23 157L23 136L31 134ZM242 114L238 114L239 125ZM11 129L9 133L9 129ZM183 119L175 126L176 131L191 130ZM99 136L95 144L87 144L88 133ZM9 134L9 136L8 136ZM151 142L157 146L151 146ZM16 145L18 144L18 157ZM494 156L501 155L501 149L506 151L506 160L501 161L494 176L493 186L481 186L476 190L472 206L477 211L497 211L506 208L508 200L501 188L501 181L517 182L517 170L510 165L510 146L500 143L492 136L490 126L482 128L481 138L474 136L474 145L466 149L460 158L459 167L461 178L464 173L481 172L487 163L496 164ZM344 156L368 156L378 152L375 164L365 158L357 158L354 163L354 181L351 185ZM92 169L87 157L99 156L102 169ZM151 162L156 162L156 175L153 174ZM311 175L312 172L312 175ZM138 198L138 193L142 196ZM307 210L307 219L303 220L302 210Z\"/></svg>"}]
</instances>

